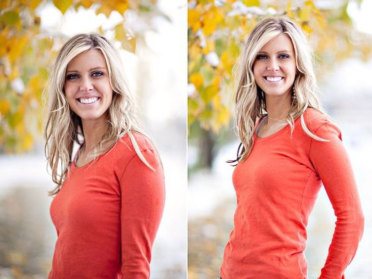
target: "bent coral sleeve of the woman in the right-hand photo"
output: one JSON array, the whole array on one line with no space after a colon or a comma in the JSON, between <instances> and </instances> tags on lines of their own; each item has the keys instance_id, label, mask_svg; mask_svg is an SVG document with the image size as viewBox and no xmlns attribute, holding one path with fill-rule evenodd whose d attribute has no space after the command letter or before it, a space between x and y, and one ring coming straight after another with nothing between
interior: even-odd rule
<instances>
[{"instance_id":1,"label":"bent coral sleeve of the woman in the right-hand photo","mask_svg":"<svg viewBox=\"0 0 372 279\"><path fill-rule=\"evenodd\" d=\"M325 122L315 134L329 140L312 140L310 160L319 174L337 216L328 256L319 279L344 279L363 234L364 217L349 157L336 125Z\"/></svg>"}]
</instances>

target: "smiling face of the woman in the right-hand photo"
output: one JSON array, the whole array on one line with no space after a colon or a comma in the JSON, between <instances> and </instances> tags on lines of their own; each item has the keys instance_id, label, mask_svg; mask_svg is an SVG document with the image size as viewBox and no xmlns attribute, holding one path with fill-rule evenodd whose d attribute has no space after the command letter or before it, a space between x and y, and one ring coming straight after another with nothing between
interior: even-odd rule
<instances>
[{"instance_id":1,"label":"smiling face of the woman in the right-hand photo","mask_svg":"<svg viewBox=\"0 0 372 279\"><path fill-rule=\"evenodd\" d=\"M253 65L253 74L266 97L291 94L296 61L292 40L288 35L279 34L262 47Z\"/></svg>"}]
</instances>

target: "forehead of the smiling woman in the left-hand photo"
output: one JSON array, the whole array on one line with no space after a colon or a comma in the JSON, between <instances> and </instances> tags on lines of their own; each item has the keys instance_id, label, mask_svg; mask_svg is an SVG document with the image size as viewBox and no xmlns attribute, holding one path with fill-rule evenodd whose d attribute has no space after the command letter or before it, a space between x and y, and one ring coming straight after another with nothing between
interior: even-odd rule
<instances>
[{"instance_id":1,"label":"forehead of the smiling woman in the left-hand photo","mask_svg":"<svg viewBox=\"0 0 372 279\"><path fill-rule=\"evenodd\" d=\"M84 71L96 67L103 67L107 69L105 57L100 50L90 49L89 51L76 55L68 63L67 70Z\"/></svg>"}]
</instances>

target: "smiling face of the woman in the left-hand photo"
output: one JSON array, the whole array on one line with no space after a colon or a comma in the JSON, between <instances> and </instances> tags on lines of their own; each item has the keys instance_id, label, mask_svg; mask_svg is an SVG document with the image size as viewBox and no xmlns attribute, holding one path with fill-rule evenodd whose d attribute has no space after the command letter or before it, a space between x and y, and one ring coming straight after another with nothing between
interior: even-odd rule
<instances>
[{"instance_id":1,"label":"smiling face of the woman in the left-hand photo","mask_svg":"<svg viewBox=\"0 0 372 279\"><path fill-rule=\"evenodd\" d=\"M106 61L100 50L91 49L81 53L68 63L64 91L70 108L83 122L107 120L112 88Z\"/></svg>"}]
</instances>

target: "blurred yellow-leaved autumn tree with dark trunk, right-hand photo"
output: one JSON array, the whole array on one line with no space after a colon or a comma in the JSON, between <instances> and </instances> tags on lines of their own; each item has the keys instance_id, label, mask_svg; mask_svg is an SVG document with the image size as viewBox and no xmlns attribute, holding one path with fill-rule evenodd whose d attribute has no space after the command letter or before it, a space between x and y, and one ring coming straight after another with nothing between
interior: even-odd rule
<instances>
[{"instance_id":1,"label":"blurred yellow-leaved autumn tree with dark trunk, right-hand photo","mask_svg":"<svg viewBox=\"0 0 372 279\"><path fill-rule=\"evenodd\" d=\"M370 40L360 39L365 35L354 28L348 5L349 1L323 8L313 1L300 6L291 1L188 1L188 128L190 143L199 145L199 167L211 167L216 135L232 119L232 69L256 23L276 15L295 20L310 38L321 76L334 61L352 55L366 60L371 53Z\"/></svg>"}]
</instances>

